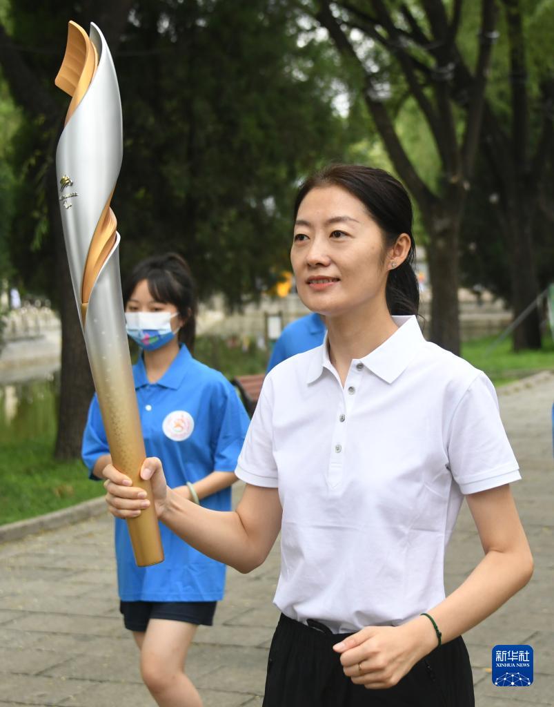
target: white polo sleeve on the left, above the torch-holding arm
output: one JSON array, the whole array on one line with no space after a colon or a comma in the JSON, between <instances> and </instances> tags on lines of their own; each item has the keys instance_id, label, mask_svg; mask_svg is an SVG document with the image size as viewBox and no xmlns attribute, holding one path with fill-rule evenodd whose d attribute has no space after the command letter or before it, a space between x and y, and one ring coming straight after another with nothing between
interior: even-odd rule
<instances>
[{"instance_id":1,"label":"white polo sleeve on the left, above the torch-holding arm","mask_svg":"<svg viewBox=\"0 0 554 707\"><path fill-rule=\"evenodd\" d=\"M235 474L252 486L278 486L277 464L273 455L273 387L271 375L264 380L252 421L248 428Z\"/></svg>"}]
</instances>

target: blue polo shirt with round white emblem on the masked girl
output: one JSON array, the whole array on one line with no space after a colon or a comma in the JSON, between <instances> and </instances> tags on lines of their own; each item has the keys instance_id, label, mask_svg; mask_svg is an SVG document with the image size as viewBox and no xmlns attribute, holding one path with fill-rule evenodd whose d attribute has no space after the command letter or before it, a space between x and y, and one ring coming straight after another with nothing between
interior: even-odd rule
<instances>
[{"instance_id":1,"label":"blue polo shirt with round white emblem on the masked girl","mask_svg":"<svg viewBox=\"0 0 554 707\"><path fill-rule=\"evenodd\" d=\"M136 397L148 457L160 457L171 488L199 481L213 471L234 472L249 418L230 382L192 358L187 346L160 380L148 381L142 357L133 367ZM96 395L83 436L83 461L90 470L110 452ZM231 489L201 505L230 510ZM119 597L123 601L211 602L223 598L225 565L189 547L160 523L165 560L137 567L124 520L115 519Z\"/></svg>"}]
</instances>

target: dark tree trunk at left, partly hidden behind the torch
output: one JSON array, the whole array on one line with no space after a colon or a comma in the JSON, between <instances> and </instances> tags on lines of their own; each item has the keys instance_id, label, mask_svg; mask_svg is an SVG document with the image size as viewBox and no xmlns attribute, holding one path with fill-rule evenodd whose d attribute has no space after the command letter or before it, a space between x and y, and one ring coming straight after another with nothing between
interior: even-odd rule
<instances>
[{"instance_id":1,"label":"dark tree trunk at left, partly hidden behind the torch","mask_svg":"<svg viewBox=\"0 0 554 707\"><path fill-rule=\"evenodd\" d=\"M54 161L48 170L47 178L48 214L50 233L56 243L56 276L61 317L61 378L54 456L57 459L75 459L81 456L81 440L94 386L69 274L59 215Z\"/></svg>"}]
</instances>

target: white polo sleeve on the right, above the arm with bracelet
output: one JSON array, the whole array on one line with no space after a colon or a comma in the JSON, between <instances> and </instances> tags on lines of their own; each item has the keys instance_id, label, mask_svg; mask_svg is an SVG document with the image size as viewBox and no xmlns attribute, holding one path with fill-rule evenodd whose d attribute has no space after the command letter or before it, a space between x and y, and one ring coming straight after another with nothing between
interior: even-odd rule
<instances>
[{"instance_id":1,"label":"white polo sleeve on the right, above the arm with bracelet","mask_svg":"<svg viewBox=\"0 0 554 707\"><path fill-rule=\"evenodd\" d=\"M449 467L464 494L521 479L493 384L479 373L452 416L447 436Z\"/></svg>"}]
</instances>

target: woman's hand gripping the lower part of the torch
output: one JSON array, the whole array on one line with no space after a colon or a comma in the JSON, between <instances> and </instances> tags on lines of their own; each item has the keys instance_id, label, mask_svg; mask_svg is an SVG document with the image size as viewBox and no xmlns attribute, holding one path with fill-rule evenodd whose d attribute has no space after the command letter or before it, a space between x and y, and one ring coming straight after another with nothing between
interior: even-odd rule
<instances>
[{"instance_id":1,"label":"woman's hand gripping the lower part of the torch","mask_svg":"<svg viewBox=\"0 0 554 707\"><path fill-rule=\"evenodd\" d=\"M150 506L146 491L133 486L131 479L119 472L113 464L107 464L102 471L105 477L106 503L110 513L116 518L137 518L141 511ZM163 513L167 501L167 484L162 462L157 457L145 459L141 467L141 479L150 479L155 511L158 518Z\"/></svg>"}]
</instances>

